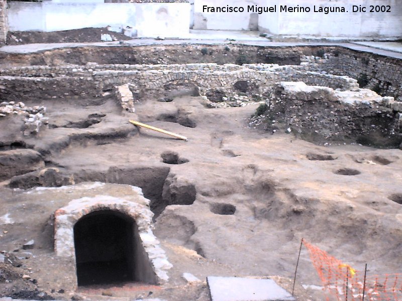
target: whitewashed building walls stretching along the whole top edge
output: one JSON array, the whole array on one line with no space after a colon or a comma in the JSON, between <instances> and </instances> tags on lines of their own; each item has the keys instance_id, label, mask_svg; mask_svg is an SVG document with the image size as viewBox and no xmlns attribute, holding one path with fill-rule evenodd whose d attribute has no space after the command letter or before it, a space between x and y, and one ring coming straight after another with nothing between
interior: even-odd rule
<instances>
[{"instance_id":1,"label":"whitewashed building walls stretching along the whole top edge","mask_svg":"<svg viewBox=\"0 0 402 301\"><path fill-rule=\"evenodd\" d=\"M138 37L187 37L189 29L255 30L272 35L402 37L401 0L190 0L104 3L104 0L9 2L10 31L132 27ZM366 12L353 12L365 7ZM373 6L374 12L370 12ZM214 12L234 9L242 12ZM316 12L343 8L342 11ZM258 9L267 12L259 13ZM379 12L375 10L379 9ZM307 12L307 10L309 10ZM381 12L381 10L385 10Z\"/></svg>"}]
</instances>

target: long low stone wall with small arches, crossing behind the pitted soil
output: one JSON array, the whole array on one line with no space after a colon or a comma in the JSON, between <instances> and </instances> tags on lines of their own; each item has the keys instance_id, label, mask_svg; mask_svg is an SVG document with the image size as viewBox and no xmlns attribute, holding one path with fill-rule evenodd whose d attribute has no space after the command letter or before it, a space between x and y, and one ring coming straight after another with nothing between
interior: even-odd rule
<instances>
[{"instance_id":1,"label":"long low stone wall with small arches, crossing behind the pitted soil","mask_svg":"<svg viewBox=\"0 0 402 301\"><path fill-rule=\"evenodd\" d=\"M233 95L239 81L247 82L242 92L248 94L270 92L275 82L280 81L303 81L341 90L358 88L357 81L352 78L304 69L303 66L274 64L12 67L1 70L0 92L3 100L19 101L22 98L94 97L127 83L137 98L163 95L169 84L192 84L203 96L210 92Z\"/></svg>"}]
</instances>

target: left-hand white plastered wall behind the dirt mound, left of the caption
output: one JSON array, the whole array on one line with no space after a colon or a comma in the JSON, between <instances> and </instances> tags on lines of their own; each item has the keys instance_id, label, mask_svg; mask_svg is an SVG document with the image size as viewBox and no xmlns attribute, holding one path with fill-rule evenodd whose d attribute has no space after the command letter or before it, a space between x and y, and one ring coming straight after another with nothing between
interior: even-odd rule
<instances>
[{"instance_id":1,"label":"left-hand white plastered wall behind the dirt mound, left of the caption","mask_svg":"<svg viewBox=\"0 0 402 301\"><path fill-rule=\"evenodd\" d=\"M189 3L59 2L9 3L10 31L130 26L137 29L138 37L182 37L189 33Z\"/></svg>"}]
</instances>

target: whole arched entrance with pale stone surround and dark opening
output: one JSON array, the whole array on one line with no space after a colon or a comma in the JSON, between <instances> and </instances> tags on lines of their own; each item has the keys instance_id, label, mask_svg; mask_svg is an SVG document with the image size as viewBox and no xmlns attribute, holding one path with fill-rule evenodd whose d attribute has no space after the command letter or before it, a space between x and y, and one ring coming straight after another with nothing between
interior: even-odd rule
<instances>
[{"instance_id":1,"label":"whole arched entrance with pale stone surround and dark opening","mask_svg":"<svg viewBox=\"0 0 402 301\"><path fill-rule=\"evenodd\" d=\"M55 211L54 250L75 265L78 285L132 280L159 284L169 279L172 265L152 233L150 201L139 188L118 184L99 188L99 183L73 187L95 196L71 200ZM103 195L105 191L125 198Z\"/></svg>"}]
</instances>

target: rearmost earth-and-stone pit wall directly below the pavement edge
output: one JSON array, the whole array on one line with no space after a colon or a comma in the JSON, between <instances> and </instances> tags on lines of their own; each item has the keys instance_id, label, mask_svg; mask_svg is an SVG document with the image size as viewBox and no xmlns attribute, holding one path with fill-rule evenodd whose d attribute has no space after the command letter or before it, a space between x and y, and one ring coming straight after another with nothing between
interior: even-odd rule
<instances>
[{"instance_id":1,"label":"rearmost earth-and-stone pit wall directly below the pavement edge","mask_svg":"<svg viewBox=\"0 0 402 301\"><path fill-rule=\"evenodd\" d=\"M118 49L117 47L77 47L32 54L0 53L0 59L4 64L47 66L85 65L88 62L99 65L177 63L299 65L302 62L305 64L305 70L346 75L357 79L361 87L373 89L382 96L402 99L400 85L402 60L344 47L261 47L232 44L120 46ZM60 71L57 73L60 74Z\"/></svg>"}]
</instances>

